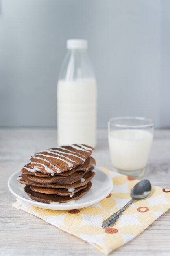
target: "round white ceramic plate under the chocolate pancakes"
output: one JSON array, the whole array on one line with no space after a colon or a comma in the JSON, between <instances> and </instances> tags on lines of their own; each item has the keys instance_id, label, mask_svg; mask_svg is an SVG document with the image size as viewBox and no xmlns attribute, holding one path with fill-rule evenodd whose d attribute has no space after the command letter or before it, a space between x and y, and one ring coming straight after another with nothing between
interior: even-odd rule
<instances>
[{"instance_id":1,"label":"round white ceramic plate under the chocolate pancakes","mask_svg":"<svg viewBox=\"0 0 170 256\"><path fill-rule=\"evenodd\" d=\"M36 207L49 209L49 210L73 210L73 209L80 209L83 207L88 207L92 204L96 204L109 193L111 193L113 189L113 182L111 178L105 174L104 172L96 169L96 175L92 179L92 187L90 191L83 195L82 198L77 200L73 200L67 203L61 204L46 204L37 202L32 200L27 193L24 191L24 184L20 184L17 181L17 177L20 175L20 171L17 171L11 175L8 180L8 188L13 195L17 198L20 198L22 201L27 202L31 205L35 205Z\"/></svg>"}]
</instances>

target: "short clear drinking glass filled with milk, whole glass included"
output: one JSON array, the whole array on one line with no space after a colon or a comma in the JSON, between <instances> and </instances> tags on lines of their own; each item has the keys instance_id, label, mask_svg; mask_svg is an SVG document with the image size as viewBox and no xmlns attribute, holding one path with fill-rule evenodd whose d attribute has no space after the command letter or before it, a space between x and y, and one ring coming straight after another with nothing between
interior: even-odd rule
<instances>
[{"instance_id":1,"label":"short clear drinking glass filled with milk, whole glass included","mask_svg":"<svg viewBox=\"0 0 170 256\"><path fill-rule=\"evenodd\" d=\"M144 117L115 117L108 121L111 162L119 173L142 177L153 141L154 121Z\"/></svg>"}]
</instances>

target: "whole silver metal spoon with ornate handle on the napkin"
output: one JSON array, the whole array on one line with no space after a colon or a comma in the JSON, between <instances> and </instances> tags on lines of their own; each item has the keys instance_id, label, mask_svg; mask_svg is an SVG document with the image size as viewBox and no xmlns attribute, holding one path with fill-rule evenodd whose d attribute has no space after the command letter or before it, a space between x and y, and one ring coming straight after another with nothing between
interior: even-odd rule
<instances>
[{"instance_id":1,"label":"whole silver metal spoon with ornate handle on the napkin","mask_svg":"<svg viewBox=\"0 0 170 256\"><path fill-rule=\"evenodd\" d=\"M151 184L149 180L141 180L138 182L133 189L131 190L131 200L119 211L111 215L106 220L103 220L102 228L107 229L115 225L116 220L122 215L124 210L133 202L138 200L143 200L150 195L151 192Z\"/></svg>"}]
</instances>

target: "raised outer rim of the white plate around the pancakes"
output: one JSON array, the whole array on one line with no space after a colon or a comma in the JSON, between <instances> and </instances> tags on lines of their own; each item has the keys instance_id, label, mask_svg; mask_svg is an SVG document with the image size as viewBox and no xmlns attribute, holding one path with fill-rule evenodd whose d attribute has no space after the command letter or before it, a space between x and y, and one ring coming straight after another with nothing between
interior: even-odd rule
<instances>
[{"instance_id":1,"label":"raised outer rim of the white plate around the pancakes","mask_svg":"<svg viewBox=\"0 0 170 256\"><path fill-rule=\"evenodd\" d=\"M109 192L108 192L108 195L109 195L109 193L111 193L111 191L113 190L113 181L112 181L111 177L109 175L107 175L107 173L101 171L98 168L95 168L95 170L99 171L101 173L104 173L109 178L110 186L111 186L110 189L109 189ZM65 210L71 210L71 209L81 209L81 208L89 207L93 204L96 204L96 203L100 202L101 200L103 200L104 198L106 198L106 195L103 195L103 196L100 197L100 199L98 198L98 199L94 199L94 200L84 202L84 203L80 203L80 204L68 204L68 205L66 205L66 204L65 205L62 205L62 204L48 204L47 205L46 203L43 203L43 202L38 202L38 201L35 201L35 200L30 200L30 199L27 199L27 198L23 198L22 196L17 195L15 193L15 191L13 191L13 189L10 186L10 182L13 179L13 176L15 176L16 173L18 173L18 172L20 172L20 170L15 171L8 179L8 189L9 189L9 191L13 195L15 195L16 198L19 198L22 201L27 202L28 204L31 204L31 205L36 206L38 208L57 210L57 211L65 211ZM24 193L26 193L26 192L24 192ZM49 206L49 208L44 208L43 206L46 206L46 207ZM59 209L59 208L62 208L62 209Z\"/></svg>"}]
</instances>

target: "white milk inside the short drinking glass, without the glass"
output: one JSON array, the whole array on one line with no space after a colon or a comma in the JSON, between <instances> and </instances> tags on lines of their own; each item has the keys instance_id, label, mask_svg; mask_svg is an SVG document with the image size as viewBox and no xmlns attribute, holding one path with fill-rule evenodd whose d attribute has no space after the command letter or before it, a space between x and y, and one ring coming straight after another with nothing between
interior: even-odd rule
<instances>
[{"instance_id":1,"label":"white milk inside the short drinking glass, without the glass","mask_svg":"<svg viewBox=\"0 0 170 256\"><path fill-rule=\"evenodd\" d=\"M153 135L142 129L120 129L109 133L114 168L135 171L146 167Z\"/></svg>"}]
</instances>

